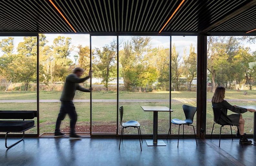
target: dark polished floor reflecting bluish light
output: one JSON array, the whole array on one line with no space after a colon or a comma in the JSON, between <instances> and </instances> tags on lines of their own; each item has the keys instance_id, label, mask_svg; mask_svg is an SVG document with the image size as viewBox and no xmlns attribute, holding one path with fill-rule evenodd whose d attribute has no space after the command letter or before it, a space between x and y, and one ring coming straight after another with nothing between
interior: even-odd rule
<instances>
[{"instance_id":1,"label":"dark polished floor reflecting bluish light","mask_svg":"<svg viewBox=\"0 0 256 166\"><path fill-rule=\"evenodd\" d=\"M1 166L165 166L165 165L255 165L256 146L239 143L239 139L163 139L167 146L147 146L140 151L138 139L124 139L118 150L115 138L25 138L10 149L0 138ZM252 139L251 139L252 140ZM8 144L14 141L8 140Z\"/></svg>"}]
</instances>

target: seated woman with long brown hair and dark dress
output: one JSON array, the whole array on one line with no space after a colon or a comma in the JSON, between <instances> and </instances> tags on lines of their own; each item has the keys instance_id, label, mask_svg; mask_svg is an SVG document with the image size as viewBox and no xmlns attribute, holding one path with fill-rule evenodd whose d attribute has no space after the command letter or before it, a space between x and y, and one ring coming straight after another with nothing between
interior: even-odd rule
<instances>
[{"instance_id":1,"label":"seated woman with long brown hair and dark dress","mask_svg":"<svg viewBox=\"0 0 256 166\"><path fill-rule=\"evenodd\" d=\"M239 132L241 133L240 135L240 142L241 143L251 143L252 141L249 141L246 138L246 134L243 133L244 130L244 119L242 118L242 114L244 112L255 112L254 109L246 109L246 108L240 108L236 107L236 105L231 105L228 103L226 100L224 100L225 97L225 88L222 86L218 86L214 92L214 95L211 99L211 103L213 107L221 108L223 113L227 115L227 111L230 110L232 112L236 112L234 114L227 115L232 124L234 125L239 125L239 131L237 135L239 135Z\"/></svg>"}]
</instances>

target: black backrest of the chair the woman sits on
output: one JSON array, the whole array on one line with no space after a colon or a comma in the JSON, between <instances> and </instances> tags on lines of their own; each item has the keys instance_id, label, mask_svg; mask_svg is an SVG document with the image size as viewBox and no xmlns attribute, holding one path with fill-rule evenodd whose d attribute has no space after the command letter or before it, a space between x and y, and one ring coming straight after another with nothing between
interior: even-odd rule
<instances>
[{"instance_id":1,"label":"black backrest of the chair the woman sits on","mask_svg":"<svg viewBox=\"0 0 256 166\"><path fill-rule=\"evenodd\" d=\"M223 113L223 110L221 108L213 107L213 106L211 107L213 111L214 122L220 125L229 125L232 123L230 118L225 113Z\"/></svg>"}]
</instances>

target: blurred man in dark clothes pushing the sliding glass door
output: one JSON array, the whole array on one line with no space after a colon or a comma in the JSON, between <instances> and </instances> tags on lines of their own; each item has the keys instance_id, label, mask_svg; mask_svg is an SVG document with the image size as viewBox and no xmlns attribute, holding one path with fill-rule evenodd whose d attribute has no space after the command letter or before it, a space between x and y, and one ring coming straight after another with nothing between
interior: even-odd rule
<instances>
[{"instance_id":1,"label":"blurred man in dark clothes pushing the sliding glass door","mask_svg":"<svg viewBox=\"0 0 256 166\"><path fill-rule=\"evenodd\" d=\"M92 76L92 71L90 69L87 77L80 78L84 73L84 69L81 67L76 67L72 74L69 74L66 78L64 88L60 97L61 107L58 114L58 118L55 126L54 137L61 137L66 134L60 132L61 121L64 120L65 116L68 114L70 118L70 133L69 138L80 139L81 137L75 133L75 125L77 122L77 112L73 103L73 98L75 96L76 90L82 92L91 92L92 88L85 89L79 85L79 83L85 82Z\"/></svg>"}]
</instances>

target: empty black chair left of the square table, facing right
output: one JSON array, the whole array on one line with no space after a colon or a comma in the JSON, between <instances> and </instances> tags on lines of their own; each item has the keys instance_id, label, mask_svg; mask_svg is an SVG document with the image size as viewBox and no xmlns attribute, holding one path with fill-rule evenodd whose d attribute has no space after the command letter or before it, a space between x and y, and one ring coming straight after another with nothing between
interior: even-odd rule
<instances>
[{"instance_id":1,"label":"empty black chair left of the square table, facing right","mask_svg":"<svg viewBox=\"0 0 256 166\"><path fill-rule=\"evenodd\" d=\"M142 151L140 139L141 139L141 142L143 142L143 141L142 141L142 136L141 136L141 132L140 132L139 122L137 122L137 121L123 122L123 114L124 114L124 107L123 106L121 106L119 108L119 112L120 112L120 118L121 118L120 123L121 123L121 126L122 126L121 137L120 137L120 142L119 142L119 150L120 150L121 139L122 139L122 142L123 142L124 129L126 129L127 127L134 127L134 128L138 129L138 135L140 136L140 138L139 138L140 150Z\"/></svg>"}]
</instances>

